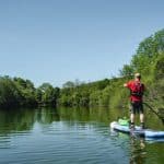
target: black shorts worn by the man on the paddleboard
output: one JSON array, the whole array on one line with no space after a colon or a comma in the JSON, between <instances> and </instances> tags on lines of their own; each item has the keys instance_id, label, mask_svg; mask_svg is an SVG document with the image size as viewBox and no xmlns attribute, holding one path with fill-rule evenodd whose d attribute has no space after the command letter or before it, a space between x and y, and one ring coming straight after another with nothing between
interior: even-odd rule
<instances>
[{"instance_id":1,"label":"black shorts worn by the man on the paddleboard","mask_svg":"<svg viewBox=\"0 0 164 164\"><path fill-rule=\"evenodd\" d=\"M130 106L131 114L143 114L143 103L142 102L131 102Z\"/></svg>"}]
</instances>

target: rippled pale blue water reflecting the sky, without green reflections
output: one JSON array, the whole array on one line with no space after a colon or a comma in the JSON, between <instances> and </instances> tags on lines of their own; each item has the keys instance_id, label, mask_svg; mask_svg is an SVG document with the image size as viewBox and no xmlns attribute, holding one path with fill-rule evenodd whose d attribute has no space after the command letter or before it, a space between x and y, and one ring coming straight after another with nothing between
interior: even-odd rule
<instances>
[{"instance_id":1,"label":"rippled pale blue water reflecting the sky, without green reflections","mask_svg":"<svg viewBox=\"0 0 164 164\"><path fill-rule=\"evenodd\" d=\"M112 137L108 126L97 122L35 124L28 132L0 137L0 145L8 148L0 147L0 163L129 163L129 138Z\"/></svg>"}]
</instances>

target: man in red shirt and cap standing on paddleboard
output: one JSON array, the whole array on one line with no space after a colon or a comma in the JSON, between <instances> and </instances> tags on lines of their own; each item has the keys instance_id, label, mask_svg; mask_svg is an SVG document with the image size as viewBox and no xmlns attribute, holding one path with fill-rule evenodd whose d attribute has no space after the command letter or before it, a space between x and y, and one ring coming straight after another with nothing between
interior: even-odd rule
<instances>
[{"instance_id":1,"label":"man in red shirt and cap standing on paddleboard","mask_svg":"<svg viewBox=\"0 0 164 164\"><path fill-rule=\"evenodd\" d=\"M140 114L141 128L144 128L144 114L143 114L143 103L142 96L144 92L144 84L141 83L141 74L136 73L134 80L129 81L124 84L125 87L130 90L130 104L131 104L131 115L130 115L130 128L134 128L134 116Z\"/></svg>"}]
</instances>

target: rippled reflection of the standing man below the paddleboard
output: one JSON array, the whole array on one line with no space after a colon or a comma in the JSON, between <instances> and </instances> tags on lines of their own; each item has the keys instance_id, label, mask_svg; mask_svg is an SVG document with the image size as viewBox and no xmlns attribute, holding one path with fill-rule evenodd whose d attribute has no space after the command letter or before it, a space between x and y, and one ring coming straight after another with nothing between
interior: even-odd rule
<instances>
[{"instance_id":1,"label":"rippled reflection of the standing man below the paddleboard","mask_svg":"<svg viewBox=\"0 0 164 164\"><path fill-rule=\"evenodd\" d=\"M145 163L147 151L144 138L130 136L130 164Z\"/></svg>"}]
</instances>

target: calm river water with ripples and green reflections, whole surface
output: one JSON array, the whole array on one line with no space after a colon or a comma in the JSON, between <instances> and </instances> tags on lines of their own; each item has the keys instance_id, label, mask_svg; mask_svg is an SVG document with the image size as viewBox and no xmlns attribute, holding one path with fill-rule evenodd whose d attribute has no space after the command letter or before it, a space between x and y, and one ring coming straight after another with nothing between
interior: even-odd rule
<instances>
[{"instance_id":1,"label":"calm river water with ripples and green reflections, whole surface","mask_svg":"<svg viewBox=\"0 0 164 164\"><path fill-rule=\"evenodd\" d=\"M163 164L164 142L112 132L125 112L107 108L0 110L0 164ZM164 130L151 114L147 125Z\"/></svg>"}]
</instances>

